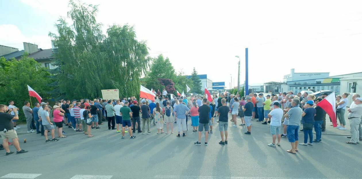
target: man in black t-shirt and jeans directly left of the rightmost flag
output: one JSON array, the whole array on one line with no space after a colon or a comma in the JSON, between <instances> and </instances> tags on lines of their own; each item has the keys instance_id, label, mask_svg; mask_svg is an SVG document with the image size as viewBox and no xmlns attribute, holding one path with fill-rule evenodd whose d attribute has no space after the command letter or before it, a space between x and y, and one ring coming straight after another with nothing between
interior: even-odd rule
<instances>
[{"instance_id":1,"label":"man in black t-shirt and jeans directly left of the rightmost flag","mask_svg":"<svg viewBox=\"0 0 362 179\"><path fill-rule=\"evenodd\" d=\"M317 98L315 100L315 104L318 104L322 99ZM306 101L307 102L307 101ZM314 131L316 132L316 139L313 143L321 143L322 142L322 129L321 126L323 124L323 119L325 120L326 112L319 106L315 106L316 115L314 116Z\"/></svg>"}]
</instances>

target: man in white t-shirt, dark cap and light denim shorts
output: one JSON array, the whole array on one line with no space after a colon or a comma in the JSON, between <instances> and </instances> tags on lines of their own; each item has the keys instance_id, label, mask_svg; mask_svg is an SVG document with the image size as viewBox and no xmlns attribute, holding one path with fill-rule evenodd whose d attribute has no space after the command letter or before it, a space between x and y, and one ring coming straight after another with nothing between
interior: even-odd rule
<instances>
[{"instance_id":1,"label":"man in white t-shirt, dark cap and light denim shorts","mask_svg":"<svg viewBox=\"0 0 362 179\"><path fill-rule=\"evenodd\" d=\"M279 103L275 102L273 105L273 111L268 114L270 119L270 133L273 135L273 142L269 143L268 146L275 147L275 139L278 136L277 145L280 146L280 126L282 123L283 110L279 108Z\"/></svg>"}]
</instances>

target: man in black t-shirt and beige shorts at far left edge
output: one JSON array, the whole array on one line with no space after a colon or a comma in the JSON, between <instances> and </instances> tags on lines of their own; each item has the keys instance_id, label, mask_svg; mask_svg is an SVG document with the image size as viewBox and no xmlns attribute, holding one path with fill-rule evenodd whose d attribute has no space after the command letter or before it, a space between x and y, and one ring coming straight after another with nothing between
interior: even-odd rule
<instances>
[{"instance_id":1,"label":"man in black t-shirt and beige shorts at far left edge","mask_svg":"<svg viewBox=\"0 0 362 179\"><path fill-rule=\"evenodd\" d=\"M9 150L9 139L13 141L13 145L16 148L16 154L26 153L27 150L20 149L19 139L16 131L14 130L14 125L12 121L17 121L19 119L17 108L13 108L14 116L5 112L6 106L0 104L0 136L3 138L3 145L0 147L0 150L5 149L5 155L10 155L14 153ZM6 131L6 132L4 132Z\"/></svg>"}]
</instances>

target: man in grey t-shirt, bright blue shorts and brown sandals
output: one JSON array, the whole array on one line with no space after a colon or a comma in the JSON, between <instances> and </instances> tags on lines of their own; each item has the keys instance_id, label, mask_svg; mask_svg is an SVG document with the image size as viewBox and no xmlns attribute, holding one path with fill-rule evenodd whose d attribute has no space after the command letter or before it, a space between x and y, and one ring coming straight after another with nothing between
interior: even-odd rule
<instances>
[{"instance_id":1,"label":"man in grey t-shirt, bright blue shorts and brown sandals","mask_svg":"<svg viewBox=\"0 0 362 179\"><path fill-rule=\"evenodd\" d=\"M292 108L284 115L288 120L287 137L292 147L292 149L287 150L287 152L296 154L296 151L298 151L298 130L300 120L302 119L302 109L298 106L298 99L292 99L291 105Z\"/></svg>"}]
</instances>

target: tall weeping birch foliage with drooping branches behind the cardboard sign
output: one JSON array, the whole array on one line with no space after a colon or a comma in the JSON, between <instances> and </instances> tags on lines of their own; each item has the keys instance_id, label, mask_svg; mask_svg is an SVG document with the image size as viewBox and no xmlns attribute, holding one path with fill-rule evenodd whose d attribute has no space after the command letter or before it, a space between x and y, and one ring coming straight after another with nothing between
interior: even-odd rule
<instances>
[{"instance_id":1,"label":"tall weeping birch foliage with drooping branches behind the cardboard sign","mask_svg":"<svg viewBox=\"0 0 362 179\"><path fill-rule=\"evenodd\" d=\"M59 93L68 99L101 97L101 90L119 89L120 96L137 96L139 79L148 68L148 48L129 25L112 25L107 37L97 23L97 5L70 1L68 25L60 18L58 34L49 33L57 47L53 70Z\"/></svg>"}]
</instances>

